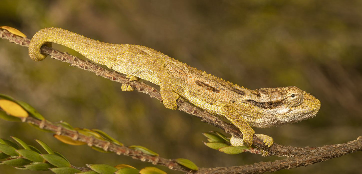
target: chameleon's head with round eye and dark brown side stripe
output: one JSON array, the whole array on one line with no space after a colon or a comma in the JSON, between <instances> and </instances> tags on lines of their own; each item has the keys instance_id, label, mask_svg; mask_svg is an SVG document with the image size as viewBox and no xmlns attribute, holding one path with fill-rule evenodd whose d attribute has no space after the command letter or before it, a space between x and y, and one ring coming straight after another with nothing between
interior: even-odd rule
<instances>
[{"instance_id":1,"label":"chameleon's head with round eye and dark brown side stripe","mask_svg":"<svg viewBox=\"0 0 362 174\"><path fill-rule=\"evenodd\" d=\"M306 120L314 117L320 108L318 99L296 86L262 88L257 91L261 97L264 95L267 98L265 103L269 103L269 107L260 116L264 117L264 124L254 123L252 126L265 128Z\"/></svg>"}]
</instances>

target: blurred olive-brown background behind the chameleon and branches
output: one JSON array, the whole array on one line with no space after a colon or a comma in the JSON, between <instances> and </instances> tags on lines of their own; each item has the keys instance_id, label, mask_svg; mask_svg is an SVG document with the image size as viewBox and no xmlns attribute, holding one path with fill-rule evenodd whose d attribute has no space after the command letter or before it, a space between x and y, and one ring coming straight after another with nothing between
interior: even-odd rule
<instances>
[{"instance_id":1,"label":"blurred olive-brown background behind the chameleon and branches","mask_svg":"<svg viewBox=\"0 0 362 174\"><path fill-rule=\"evenodd\" d=\"M1 0L0 26L29 38L61 27L108 43L148 46L215 76L256 89L299 86L321 101L319 114L278 128L255 129L278 144L323 146L362 133L362 1L360 0ZM54 44L81 58L75 51ZM184 112L166 109L121 84L0 40L0 93L30 103L48 120L101 129L126 145L161 156L186 158L199 167L273 161L250 153L226 155L206 147L201 133L219 130ZM220 131L220 130L219 130ZM87 146L63 144L27 124L0 120L0 137L36 145L41 139L77 166L152 166ZM38 146L39 147L39 146ZM362 173L361 152L275 173ZM168 173L180 173L159 167ZM0 166L1 174L32 174ZM43 172L51 173L51 172Z\"/></svg>"}]
</instances>

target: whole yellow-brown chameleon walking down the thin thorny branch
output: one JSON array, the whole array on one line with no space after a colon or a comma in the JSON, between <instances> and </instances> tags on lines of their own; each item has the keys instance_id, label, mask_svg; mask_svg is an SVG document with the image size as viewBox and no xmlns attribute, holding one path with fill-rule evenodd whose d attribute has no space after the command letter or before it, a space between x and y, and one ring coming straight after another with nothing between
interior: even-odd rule
<instances>
[{"instance_id":1,"label":"whole yellow-brown chameleon walking down the thin thorny branch","mask_svg":"<svg viewBox=\"0 0 362 174\"><path fill-rule=\"evenodd\" d=\"M224 116L243 133L243 139L232 137L233 146L251 146L254 130L298 122L315 116L320 101L296 86L250 90L190 67L163 53L140 45L109 44L95 41L61 28L44 28L30 41L29 55L41 61L47 55L39 52L43 44L67 46L88 59L127 75L160 86L163 104L176 110L182 98L215 116ZM132 91L122 84L123 91ZM256 134L271 146L273 138Z\"/></svg>"}]
</instances>

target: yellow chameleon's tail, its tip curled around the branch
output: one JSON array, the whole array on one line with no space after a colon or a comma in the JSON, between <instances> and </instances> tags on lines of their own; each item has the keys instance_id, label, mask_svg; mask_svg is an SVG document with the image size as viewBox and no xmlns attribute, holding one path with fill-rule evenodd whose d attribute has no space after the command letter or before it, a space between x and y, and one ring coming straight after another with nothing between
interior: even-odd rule
<instances>
[{"instance_id":1,"label":"yellow chameleon's tail, its tip curled around the branch","mask_svg":"<svg viewBox=\"0 0 362 174\"><path fill-rule=\"evenodd\" d=\"M116 51L115 44L95 41L62 28L51 27L38 31L30 40L30 58L34 61L45 59L47 55L41 54L39 50L44 44L51 46L51 42L67 46L88 59L107 66L109 66L109 62L112 62L111 59L114 59L107 53Z\"/></svg>"}]
</instances>

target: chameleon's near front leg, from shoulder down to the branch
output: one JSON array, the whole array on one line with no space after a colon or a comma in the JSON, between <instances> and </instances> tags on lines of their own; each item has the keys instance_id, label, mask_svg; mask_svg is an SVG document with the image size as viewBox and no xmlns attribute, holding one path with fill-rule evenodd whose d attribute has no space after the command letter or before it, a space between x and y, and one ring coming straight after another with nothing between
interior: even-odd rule
<instances>
[{"instance_id":1,"label":"chameleon's near front leg, from shoulder down to the branch","mask_svg":"<svg viewBox=\"0 0 362 174\"><path fill-rule=\"evenodd\" d=\"M243 108L241 106L236 106L233 103L229 103L224 104L221 109L223 115L230 120L233 125L239 128L241 133L243 133L244 146L250 147L253 143L253 135L255 131L250 127L248 122L241 117L241 114L243 114Z\"/></svg>"}]
</instances>

